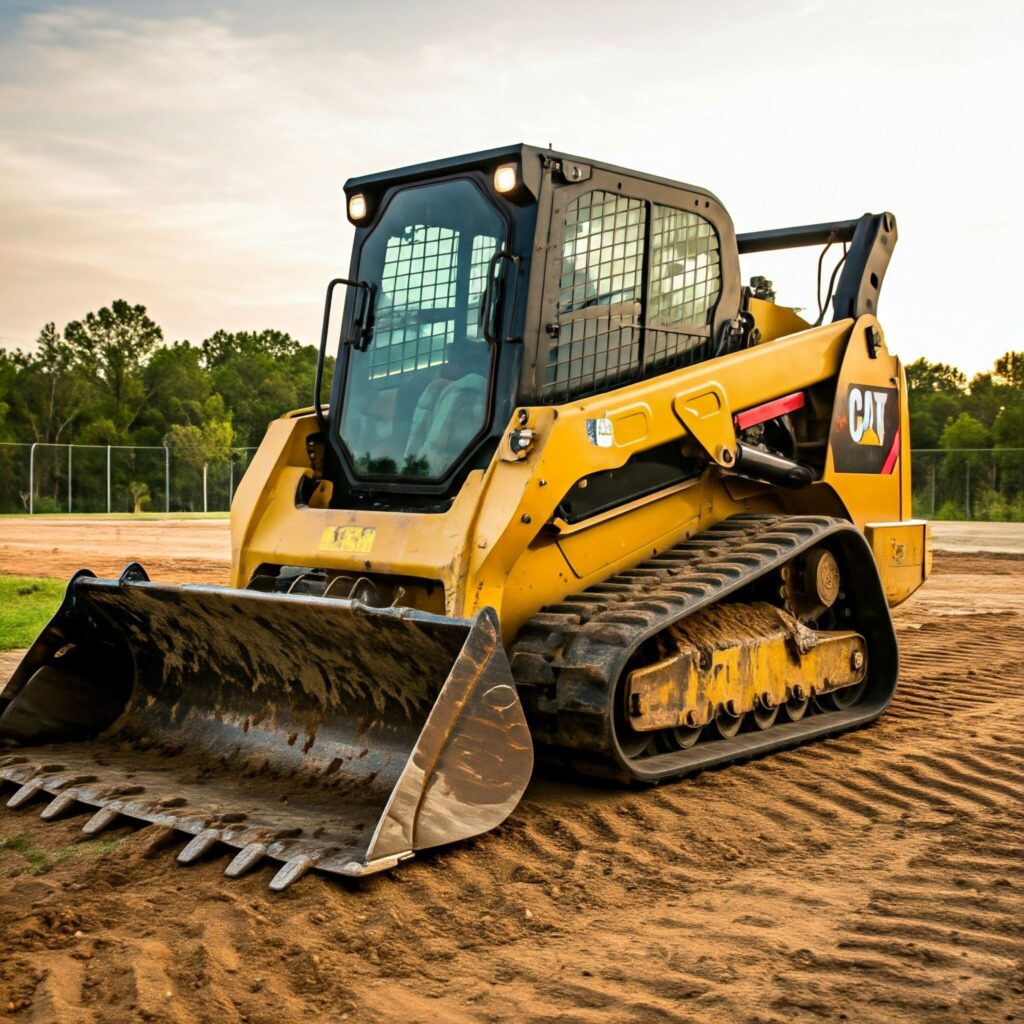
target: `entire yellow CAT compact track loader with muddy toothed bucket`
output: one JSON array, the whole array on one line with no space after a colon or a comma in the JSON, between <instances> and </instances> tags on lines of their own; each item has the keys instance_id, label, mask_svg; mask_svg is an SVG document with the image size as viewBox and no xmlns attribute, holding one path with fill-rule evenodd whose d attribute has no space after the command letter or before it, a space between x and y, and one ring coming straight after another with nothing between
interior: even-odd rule
<instances>
[{"instance_id":1,"label":"entire yellow CAT compact track loader with muddy toothed bucket","mask_svg":"<svg viewBox=\"0 0 1024 1024\"><path fill-rule=\"evenodd\" d=\"M8 806L282 889L494 828L535 752L655 782L882 713L930 567L892 214L737 236L702 188L525 145L345 191L313 404L242 481L231 586L77 573L0 693ZM798 246L813 323L740 284Z\"/></svg>"}]
</instances>

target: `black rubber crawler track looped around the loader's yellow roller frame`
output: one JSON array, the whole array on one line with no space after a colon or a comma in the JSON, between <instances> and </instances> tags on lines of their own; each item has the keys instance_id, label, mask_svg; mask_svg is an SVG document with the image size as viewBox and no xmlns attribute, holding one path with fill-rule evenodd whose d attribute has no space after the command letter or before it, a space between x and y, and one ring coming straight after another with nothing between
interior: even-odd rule
<instances>
[{"instance_id":1,"label":"black rubber crawler track looped around the loader's yellow roller frame","mask_svg":"<svg viewBox=\"0 0 1024 1024\"><path fill-rule=\"evenodd\" d=\"M856 630L867 642L860 701L689 750L638 757L624 752L615 734L614 701L637 648L819 544L840 562L847 609L842 628ZM888 707L899 675L896 636L870 547L851 523L827 516L725 519L542 609L520 631L511 654L539 755L587 775L649 782L862 726Z\"/></svg>"}]
</instances>

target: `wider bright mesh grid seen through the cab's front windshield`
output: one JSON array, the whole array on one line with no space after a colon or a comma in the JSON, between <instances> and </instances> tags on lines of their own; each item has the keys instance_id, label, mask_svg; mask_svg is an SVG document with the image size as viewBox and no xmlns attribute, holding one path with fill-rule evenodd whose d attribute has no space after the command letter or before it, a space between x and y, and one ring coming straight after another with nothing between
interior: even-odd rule
<instances>
[{"instance_id":1,"label":"wider bright mesh grid seen through the cab's front windshield","mask_svg":"<svg viewBox=\"0 0 1024 1024\"><path fill-rule=\"evenodd\" d=\"M452 342L459 263L459 232L411 225L388 239L381 274L371 378L391 377L444 361ZM436 318L424 310L436 309Z\"/></svg>"}]
</instances>

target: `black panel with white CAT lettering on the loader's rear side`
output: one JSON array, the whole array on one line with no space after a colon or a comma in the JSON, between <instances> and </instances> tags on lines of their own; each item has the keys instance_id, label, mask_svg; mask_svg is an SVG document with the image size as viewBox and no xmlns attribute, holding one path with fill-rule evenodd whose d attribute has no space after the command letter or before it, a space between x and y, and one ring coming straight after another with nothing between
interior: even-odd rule
<instances>
[{"instance_id":1,"label":"black panel with white CAT lettering on the loader's rear side","mask_svg":"<svg viewBox=\"0 0 1024 1024\"><path fill-rule=\"evenodd\" d=\"M899 458L899 396L894 387L851 384L836 396L833 461L839 473L892 473Z\"/></svg>"}]
</instances>

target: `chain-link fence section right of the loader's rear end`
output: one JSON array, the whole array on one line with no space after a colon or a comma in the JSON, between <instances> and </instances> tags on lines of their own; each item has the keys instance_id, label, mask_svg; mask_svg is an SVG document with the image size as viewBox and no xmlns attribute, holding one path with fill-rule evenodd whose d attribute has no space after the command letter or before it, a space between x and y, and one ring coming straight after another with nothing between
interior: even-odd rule
<instances>
[{"instance_id":1,"label":"chain-link fence section right of the loader's rear end","mask_svg":"<svg viewBox=\"0 0 1024 1024\"><path fill-rule=\"evenodd\" d=\"M910 466L920 518L1024 522L1024 449L922 449Z\"/></svg>"}]
</instances>

